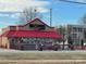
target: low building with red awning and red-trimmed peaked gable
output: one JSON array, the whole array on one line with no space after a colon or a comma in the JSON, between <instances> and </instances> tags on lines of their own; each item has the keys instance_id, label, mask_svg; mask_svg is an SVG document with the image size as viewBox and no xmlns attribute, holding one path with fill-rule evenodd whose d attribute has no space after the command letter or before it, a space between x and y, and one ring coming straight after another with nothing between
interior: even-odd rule
<instances>
[{"instance_id":1,"label":"low building with red awning and red-trimmed peaked gable","mask_svg":"<svg viewBox=\"0 0 86 64\"><path fill-rule=\"evenodd\" d=\"M9 26L2 31L0 46L8 49L48 49L61 39L61 35L53 27L48 26L39 18L29 21L25 25Z\"/></svg>"}]
</instances>

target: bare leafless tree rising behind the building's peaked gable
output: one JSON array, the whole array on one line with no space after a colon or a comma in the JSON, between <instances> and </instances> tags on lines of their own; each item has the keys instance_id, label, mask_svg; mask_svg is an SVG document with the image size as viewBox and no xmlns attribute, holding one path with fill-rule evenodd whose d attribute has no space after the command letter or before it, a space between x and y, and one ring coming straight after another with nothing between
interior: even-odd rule
<instances>
[{"instance_id":1,"label":"bare leafless tree rising behind the building's peaked gable","mask_svg":"<svg viewBox=\"0 0 86 64\"><path fill-rule=\"evenodd\" d=\"M20 13L20 22L19 24L26 24L27 21L32 21L35 17L41 18L42 15L37 11L36 8L26 8L23 12Z\"/></svg>"}]
</instances>

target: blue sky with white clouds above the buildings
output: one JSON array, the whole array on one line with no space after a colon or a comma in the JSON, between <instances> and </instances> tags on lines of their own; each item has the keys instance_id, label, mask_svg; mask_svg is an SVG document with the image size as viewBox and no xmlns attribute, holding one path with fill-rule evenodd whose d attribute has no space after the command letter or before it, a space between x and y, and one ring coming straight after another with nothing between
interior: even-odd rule
<instances>
[{"instance_id":1,"label":"blue sky with white clouds above the buildings","mask_svg":"<svg viewBox=\"0 0 86 64\"><path fill-rule=\"evenodd\" d=\"M86 2L86 0L70 0ZM0 0L0 30L9 25L16 25L20 12L25 8L35 7L42 14L42 21L50 25L52 9L52 26L78 24L86 13L86 4L62 2L59 0Z\"/></svg>"}]
</instances>

